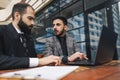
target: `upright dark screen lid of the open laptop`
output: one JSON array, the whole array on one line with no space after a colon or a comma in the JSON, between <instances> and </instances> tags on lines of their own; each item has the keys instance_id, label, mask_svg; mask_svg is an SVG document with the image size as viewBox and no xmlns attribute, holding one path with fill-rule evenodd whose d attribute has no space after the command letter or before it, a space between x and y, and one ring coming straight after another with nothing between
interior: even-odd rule
<instances>
[{"instance_id":1,"label":"upright dark screen lid of the open laptop","mask_svg":"<svg viewBox=\"0 0 120 80\"><path fill-rule=\"evenodd\" d=\"M116 41L117 34L103 26L96 53L95 64L106 63L113 59Z\"/></svg>"}]
</instances>

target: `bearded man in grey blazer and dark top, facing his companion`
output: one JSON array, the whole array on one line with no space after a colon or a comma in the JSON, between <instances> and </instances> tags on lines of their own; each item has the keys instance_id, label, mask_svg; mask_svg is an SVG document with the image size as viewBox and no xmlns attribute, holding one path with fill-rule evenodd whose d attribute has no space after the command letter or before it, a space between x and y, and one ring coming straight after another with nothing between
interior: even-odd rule
<instances>
[{"instance_id":1,"label":"bearded man in grey blazer and dark top, facing his companion","mask_svg":"<svg viewBox=\"0 0 120 80\"><path fill-rule=\"evenodd\" d=\"M56 55L62 63L74 61L76 59L88 59L77 46L75 40L66 34L67 19L63 16L56 16L52 19L55 36L46 40L46 56Z\"/></svg>"}]
</instances>

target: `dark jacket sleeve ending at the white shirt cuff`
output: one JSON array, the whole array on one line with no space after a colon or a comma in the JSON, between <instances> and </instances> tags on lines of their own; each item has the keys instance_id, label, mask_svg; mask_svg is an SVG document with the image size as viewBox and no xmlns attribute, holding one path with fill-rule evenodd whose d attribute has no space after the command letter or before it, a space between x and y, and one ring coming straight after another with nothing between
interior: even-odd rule
<instances>
[{"instance_id":1,"label":"dark jacket sleeve ending at the white shirt cuff","mask_svg":"<svg viewBox=\"0 0 120 80\"><path fill-rule=\"evenodd\" d=\"M29 67L29 58L9 56L4 53L4 40L0 28L0 70Z\"/></svg>"}]
</instances>

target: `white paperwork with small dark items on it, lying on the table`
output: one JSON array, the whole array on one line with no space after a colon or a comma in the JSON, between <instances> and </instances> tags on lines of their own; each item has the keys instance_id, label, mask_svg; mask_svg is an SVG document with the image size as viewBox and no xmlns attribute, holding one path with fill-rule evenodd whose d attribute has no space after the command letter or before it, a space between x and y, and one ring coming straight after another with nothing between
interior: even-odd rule
<instances>
[{"instance_id":1,"label":"white paperwork with small dark items on it, lying on the table","mask_svg":"<svg viewBox=\"0 0 120 80\"><path fill-rule=\"evenodd\" d=\"M1 74L4 80L61 80L79 66L43 66ZM1 79L0 79L1 80Z\"/></svg>"}]
</instances>

